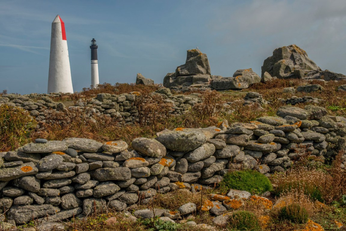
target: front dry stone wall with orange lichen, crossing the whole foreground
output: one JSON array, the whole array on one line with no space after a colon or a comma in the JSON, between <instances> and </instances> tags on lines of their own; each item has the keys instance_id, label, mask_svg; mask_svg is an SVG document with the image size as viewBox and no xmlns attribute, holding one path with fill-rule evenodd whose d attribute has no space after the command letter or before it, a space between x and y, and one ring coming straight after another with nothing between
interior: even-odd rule
<instances>
[{"instance_id":1,"label":"front dry stone wall with orange lichen, crossing the whole foreground","mask_svg":"<svg viewBox=\"0 0 346 231\"><path fill-rule=\"evenodd\" d=\"M38 139L0 153L0 213L21 224L85 216L95 205L120 211L149 203L157 193L213 185L230 170L284 171L306 152L333 158L345 149L346 118L326 114L317 106L287 106L277 117L250 123L139 137L133 150L124 141Z\"/></svg>"}]
</instances>

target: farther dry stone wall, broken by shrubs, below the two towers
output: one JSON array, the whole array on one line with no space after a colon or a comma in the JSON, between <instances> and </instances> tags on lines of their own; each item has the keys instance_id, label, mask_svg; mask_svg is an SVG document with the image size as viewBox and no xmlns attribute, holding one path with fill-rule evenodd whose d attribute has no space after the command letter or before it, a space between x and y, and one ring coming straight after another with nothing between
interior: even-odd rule
<instances>
[{"instance_id":1,"label":"farther dry stone wall, broken by shrubs, below the two towers","mask_svg":"<svg viewBox=\"0 0 346 231\"><path fill-rule=\"evenodd\" d=\"M191 95L172 95L170 89L162 88L153 92L162 96L164 103L171 106L172 109L169 114L181 115L191 109L196 103L201 103L198 93ZM52 114L55 111L66 109L64 104L55 103L51 98L47 96L63 96L69 94L30 94L30 95L16 95L8 94L0 97L0 105L7 104L13 107L21 107L27 110L31 116L35 117L37 121L45 122L46 115ZM136 97L140 95L140 92L130 92L130 94L111 95L108 93L100 93L95 98L87 101L78 100L75 106L70 106L70 110L82 110L86 113L87 117L94 115L105 115L107 117L113 117L119 119L119 125L131 124L139 121L138 109L135 106ZM85 110L85 108L87 110Z\"/></svg>"}]
</instances>

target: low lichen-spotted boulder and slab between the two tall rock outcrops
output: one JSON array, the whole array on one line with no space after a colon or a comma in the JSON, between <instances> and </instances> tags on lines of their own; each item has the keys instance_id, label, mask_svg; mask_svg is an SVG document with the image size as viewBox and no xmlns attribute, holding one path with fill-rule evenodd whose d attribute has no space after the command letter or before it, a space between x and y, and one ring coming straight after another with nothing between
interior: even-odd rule
<instances>
[{"instance_id":1,"label":"low lichen-spotted boulder and slab between the two tall rock outcrops","mask_svg":"<svg viewBox=\"0 0 346 231\"><path fill-rule=\"evenodd\" d=\"M215 90L239 90L248 88L254 83L261 82L261 77L249 69L239 69L234 72L233 77L214 79L212 87Z\"/></svg>"}]
</instances>

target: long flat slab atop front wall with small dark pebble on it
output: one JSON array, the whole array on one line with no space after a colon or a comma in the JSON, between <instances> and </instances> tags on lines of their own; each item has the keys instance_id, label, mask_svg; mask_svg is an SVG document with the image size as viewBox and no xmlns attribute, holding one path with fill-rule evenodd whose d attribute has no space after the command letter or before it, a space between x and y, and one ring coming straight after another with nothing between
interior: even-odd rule
<instances>
[{"instance_id":1,"label":"long flat slab atop front wall with small dark pebble on it","mask_svg":"<svg viewBox=\"0 0 346 231\"><path fill-rule=\"evenodd\" d=\"M22 150L27 153L49 153L63 152L67 149L65 142L48 141L47 143L29 143L22 146Z\"/></svg>"}]
</instances>

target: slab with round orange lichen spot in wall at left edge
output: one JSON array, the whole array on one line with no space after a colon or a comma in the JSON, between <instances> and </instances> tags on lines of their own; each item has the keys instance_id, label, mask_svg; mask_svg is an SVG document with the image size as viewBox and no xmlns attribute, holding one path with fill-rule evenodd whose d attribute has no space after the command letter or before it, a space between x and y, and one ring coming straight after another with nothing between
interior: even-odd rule
<instances>
[{"instance_id":1,"label":"slab with round orange lichen spot in wall at left edge","mask_svg":"<svg viewBox=\"0 0 346 231\"><path fill-rule=\"evenodd\" d=\"M13 168L0 168L0 181L9 181L22 176L35 175L37 172L38 169L33 162Z\"/></svg>"}]
</instances>

